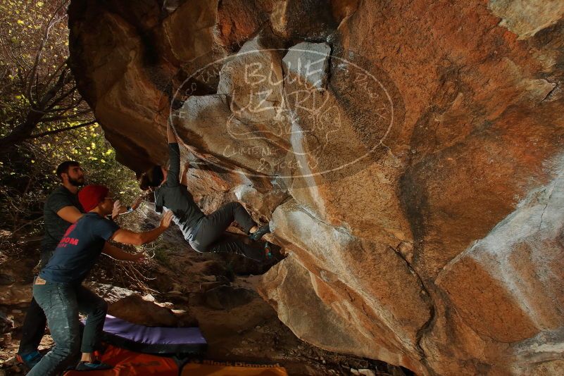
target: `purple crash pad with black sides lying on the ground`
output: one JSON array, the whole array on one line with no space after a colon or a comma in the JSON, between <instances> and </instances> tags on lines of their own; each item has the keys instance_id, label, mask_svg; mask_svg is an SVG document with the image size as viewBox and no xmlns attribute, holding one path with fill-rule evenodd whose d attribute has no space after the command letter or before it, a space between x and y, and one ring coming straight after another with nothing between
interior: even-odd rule
<instances>
[{"instance_id":1,"label":"purple crash pad with black sides lying on the ground","mask_svg":"<svg viewBox=\"0 0 564 376\"><path fill-rule=\"evenodd\" d=\"M202 353L206 339L198 327L146 327L106 315L104 341L143 353Z\"/></svg>"}]
</instances>

